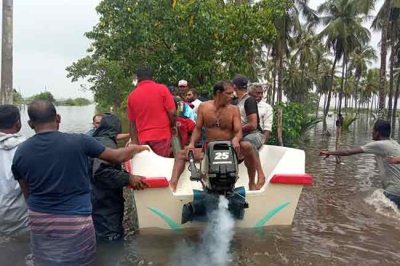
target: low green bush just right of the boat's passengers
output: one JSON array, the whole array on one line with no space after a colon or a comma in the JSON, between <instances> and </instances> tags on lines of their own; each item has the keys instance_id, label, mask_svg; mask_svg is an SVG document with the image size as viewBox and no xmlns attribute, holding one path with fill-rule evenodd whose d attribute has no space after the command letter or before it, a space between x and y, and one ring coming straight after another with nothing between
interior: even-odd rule
<instances>
[{"instance_id":1,"label":"low green bush just right of the boat's passengers","mask_svg":"<svg viewBox=\"0 0 400 266\"><path fill-rule=\"evenodd\" d=\"M274 124L269 139L269 144L278 144L278 109L282 108L282 138L285 146L292 147L300 140L301 136L317 123L319 118L309 118L303 105L293 102L279 103L274 106Z\"/></svg>"}]
</instances>

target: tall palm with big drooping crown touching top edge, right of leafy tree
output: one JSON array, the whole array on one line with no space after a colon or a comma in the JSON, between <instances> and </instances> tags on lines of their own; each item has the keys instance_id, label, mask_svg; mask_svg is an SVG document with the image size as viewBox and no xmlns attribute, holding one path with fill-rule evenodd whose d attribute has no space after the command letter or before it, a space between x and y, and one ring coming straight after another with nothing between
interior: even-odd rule
<instances>
[{"instance_id":1,"label":"tall palm with big drooping crown touching top edge, right of leafy tree","mask_svg":"<svg viewBox=\"0 0 400 266\"><path fill-rule=\"evenodd\" d=\"M361 25L362 11L359 9L358 1L356 0L328 0L318 7L318 12L322 14L320 20L325 26L319 37L325 38L327 48L332 49L334 54L328 101L324 111L324 131L326 131L326 116L330 106L336 63L343 57L342 76L344 76L349 53L356 47L368 42L370 33ZM339 112L343 94L343 82L344 79L342 79L339 92Z\"/></svg>"}]
</instances>

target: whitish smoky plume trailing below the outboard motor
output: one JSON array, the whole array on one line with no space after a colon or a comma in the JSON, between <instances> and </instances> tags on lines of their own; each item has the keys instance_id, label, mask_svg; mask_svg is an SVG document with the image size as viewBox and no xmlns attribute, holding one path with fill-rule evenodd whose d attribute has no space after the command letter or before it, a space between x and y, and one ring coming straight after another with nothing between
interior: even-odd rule
<instances>
[{"instance_id":1,"label":"whitish smoky plume trailing below the outboard motor","mask_svg":"<svg viewBox=\"0 0 400 266\"><path fill-rule=\"evenodd\" d=\"M220 196L218 208L208 215L207 225L199 245L185 243L178 247L173 265L227 266L231 262L230 243L235 220L228 211L228 200Z\"/></svg>"}]
</instances>

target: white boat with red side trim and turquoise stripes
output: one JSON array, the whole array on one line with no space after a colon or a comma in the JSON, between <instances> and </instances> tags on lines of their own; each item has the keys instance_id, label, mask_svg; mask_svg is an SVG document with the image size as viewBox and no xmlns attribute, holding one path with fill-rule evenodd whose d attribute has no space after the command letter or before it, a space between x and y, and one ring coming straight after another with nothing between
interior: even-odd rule
<instances>
[{"instance_id":1,"label":"white boat with red side trim and turquoise stripes","mask_svg":"<svg viewBox=\"0 0 400 266\"><path fill-rule=\"evenodd\" d=\"M312 184L305 174L303 150L264 145L260 160L266 176L261 190L248 190L247 169L239 165L236 187L244 187L248 208L237 227L252 228L271 225L291 225L304 185ZM175 193L169 187L174 159L160 157L152 151L137 154L125 164L128 171L146 177L151 188L135 191L139 228L180 230L204 225L204 221L181 223L182 208L193 202L193 190L203 190L200 182L190 180L188 163ZM198 165L198 164L196 164Z\"/></svg>"}]
</instances>

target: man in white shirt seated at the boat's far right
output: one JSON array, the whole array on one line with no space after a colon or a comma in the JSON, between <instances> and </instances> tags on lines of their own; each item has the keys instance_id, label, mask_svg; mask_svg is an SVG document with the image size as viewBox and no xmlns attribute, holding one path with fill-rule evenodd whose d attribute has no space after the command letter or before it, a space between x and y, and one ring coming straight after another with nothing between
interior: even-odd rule
<instances>
[{"instance_id":1,"label":"man in white shirt seated at the boat's far right","mask_svg":"<svg viewBox=\"0 0 400 266\"><path fill-rule=\"evenodd\" d=\"M272 131L274 119L274 110L271 105L263 100L264 90L260 84L250 86L249 94L257 100L258 116L260 117L260 127L265 136L265 142L268 142L269 134Z\"/></svg>"}]
</instances>

